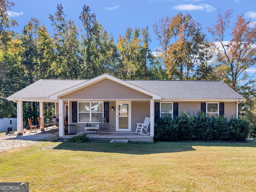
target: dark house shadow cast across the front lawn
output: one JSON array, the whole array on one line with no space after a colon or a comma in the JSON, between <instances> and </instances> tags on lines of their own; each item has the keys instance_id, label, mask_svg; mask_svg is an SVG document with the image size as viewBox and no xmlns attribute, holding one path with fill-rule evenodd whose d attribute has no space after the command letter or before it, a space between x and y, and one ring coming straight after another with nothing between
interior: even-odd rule
<instances>
[{"instance_id":1,"label":"dark house shadow cast across the front lawn","mask_svg":"<svg viewBox=\"0 0 256 192\"><path fill-rule=\"evenodd\" d=\"M194 151L195 149L193 146L256 147L256 142L61 142L56 147L54 147L54 149L140 155Z\"/></svg>"}]
</instances>

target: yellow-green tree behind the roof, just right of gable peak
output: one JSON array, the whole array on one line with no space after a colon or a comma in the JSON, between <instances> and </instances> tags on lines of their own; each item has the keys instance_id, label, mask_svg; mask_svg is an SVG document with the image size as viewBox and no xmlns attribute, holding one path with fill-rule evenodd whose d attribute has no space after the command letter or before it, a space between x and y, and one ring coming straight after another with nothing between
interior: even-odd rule
<instances>
[{"instance_id":1,"label":"yellow-green tree behind the roof, just right of gable peak","mask_svg":"<svg viewBox=\"0 0 256 192\"><path fill-rule=\"evenodd\" d=\"M156 63L150 49L150 34L146 28L127 28L124 36L118 37L118 78L122 79L151 79L163 76L163 70Z\"/></svg>"}]
</instances>

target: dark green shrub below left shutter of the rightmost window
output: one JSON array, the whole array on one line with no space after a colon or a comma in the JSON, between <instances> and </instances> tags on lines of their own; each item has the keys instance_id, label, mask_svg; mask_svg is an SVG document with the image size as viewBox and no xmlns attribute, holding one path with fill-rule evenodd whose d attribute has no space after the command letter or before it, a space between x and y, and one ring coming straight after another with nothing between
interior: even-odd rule
<instances>
[{"instance_id":1,"label":"dark green shrub below left shutter of the rightmost window","mask_svg":"<svg viewBox=\"0 0 256 192\"><path fill-rule=\"evenodd\" d=\"M213 139L211 118L205 112L198 112L194 117L194 134L197 140L209 141Z\"/></svg>"}]
</instances>

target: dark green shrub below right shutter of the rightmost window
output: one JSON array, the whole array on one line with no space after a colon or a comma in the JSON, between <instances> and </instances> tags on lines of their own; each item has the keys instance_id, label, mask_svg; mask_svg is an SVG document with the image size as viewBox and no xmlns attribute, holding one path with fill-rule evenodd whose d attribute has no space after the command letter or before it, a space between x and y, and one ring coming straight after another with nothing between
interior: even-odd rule
<instances>
[{"instance_id":1,"label":"dark green shrub below right shutter of the rightmost window","mask_svg":"<svg viewBox=\"0 0 256 192\"><path fill-rule=\"evenodd\" d=\"M212 123L212 139L221 141L229 138L228 119L224 116L211 118Z\"/></svg>"}]
</instances>

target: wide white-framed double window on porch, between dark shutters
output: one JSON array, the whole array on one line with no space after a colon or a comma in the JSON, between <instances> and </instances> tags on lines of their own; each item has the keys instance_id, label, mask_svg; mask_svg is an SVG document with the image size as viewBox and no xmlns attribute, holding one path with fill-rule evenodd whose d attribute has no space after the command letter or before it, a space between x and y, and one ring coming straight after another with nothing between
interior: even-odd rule
<instances>
[{"instance_id":1,"label":"wide white-framed double window on porch, between dark shutters","mask_svg":"<svg viewBox=\"0 0 256 192\"><path fill-rule=\"evenodd\" d=\"M78 122L98 122L103 117L103 102L78 102Z\"/></svg>"}]
</instances>

